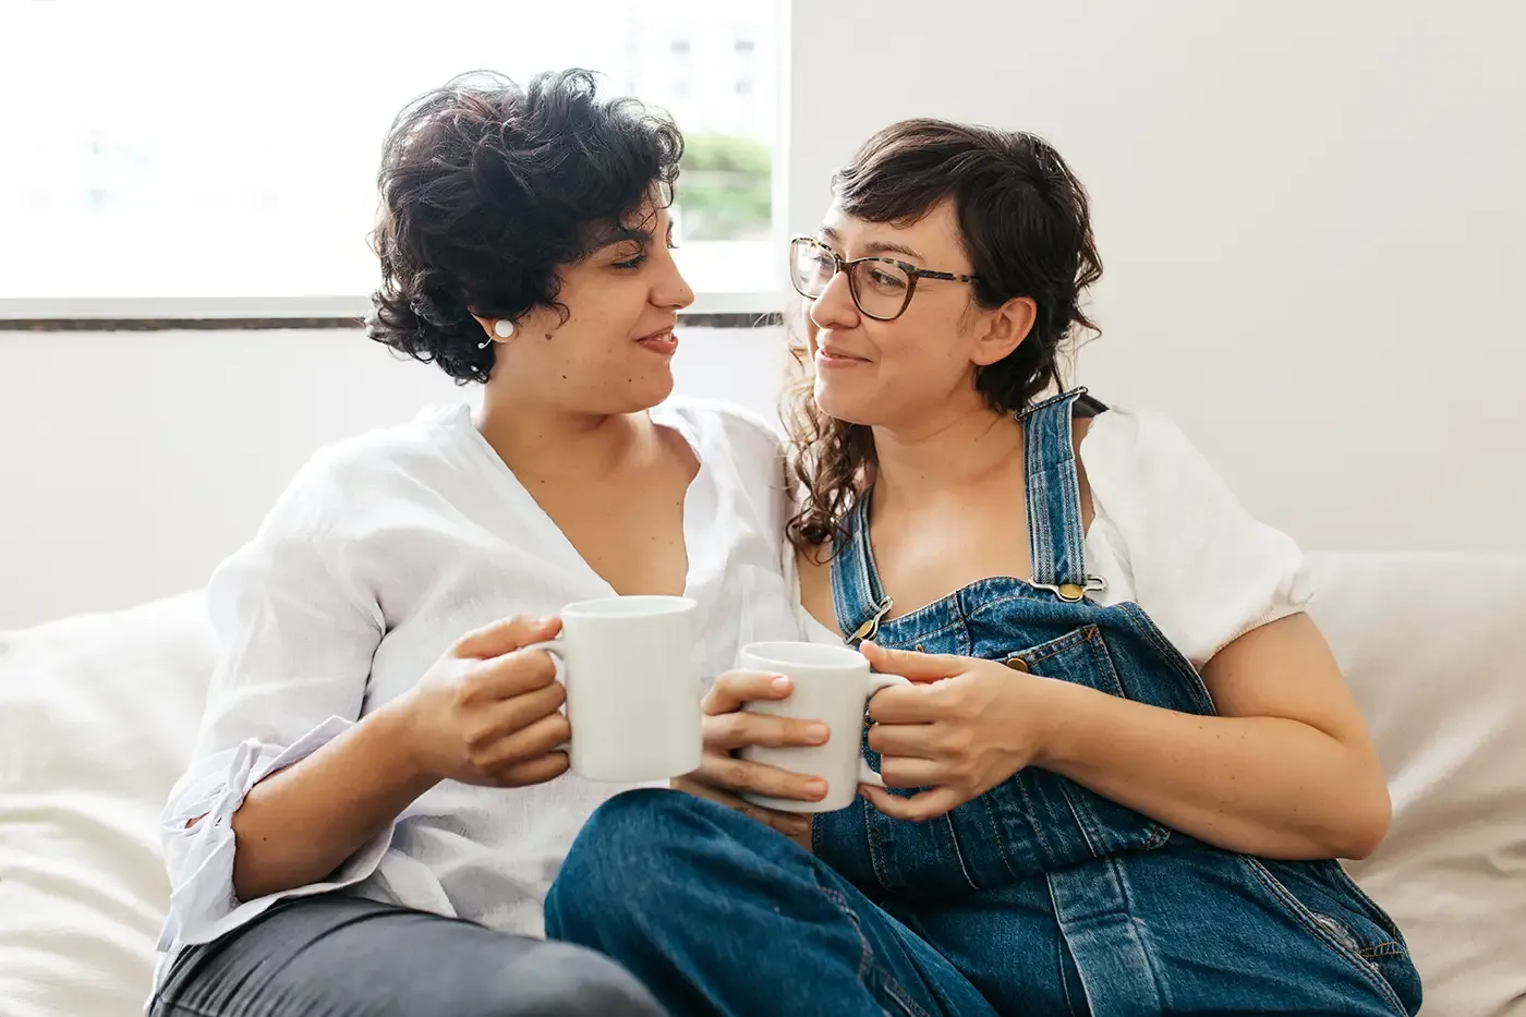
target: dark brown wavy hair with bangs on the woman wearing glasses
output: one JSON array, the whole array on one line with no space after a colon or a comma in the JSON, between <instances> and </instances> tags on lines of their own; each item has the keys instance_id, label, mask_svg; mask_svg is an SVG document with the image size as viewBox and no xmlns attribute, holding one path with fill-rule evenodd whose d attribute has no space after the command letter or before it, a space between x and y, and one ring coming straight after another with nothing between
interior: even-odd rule
<instances>
[{"instance_id":1,"label":"dark brown wavy hair with bangs on the woman wearing glasses","mask_svg":"<svg viewBox=\"0 0 1526 1017\"><path fill-rule=\"evenodd\" d=\"M1062 383L1068 344L1080 330L1097 333L1080 301L1102 278L1102 258L1087 191L1053 147L1021 131L902 121L864 142L832 185L845 214L871 223L916 223L952 199L977 276L974 302L990 308L1032 296L1038 304L1027 337L978 368L975 389L995 412L1016 414ZM809 548L842 536L847 510L871 481L874 438L867 426L821 411L806 345L800 336L790 345L797 379L786 420L800 508L786 531Z\"/></svg>"}]
</instances>

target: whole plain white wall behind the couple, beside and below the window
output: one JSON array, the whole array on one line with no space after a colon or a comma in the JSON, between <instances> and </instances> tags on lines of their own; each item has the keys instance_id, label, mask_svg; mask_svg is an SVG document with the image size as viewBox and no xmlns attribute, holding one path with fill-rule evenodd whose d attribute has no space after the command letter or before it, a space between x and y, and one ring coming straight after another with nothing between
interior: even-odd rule
<instances>
[{"instance_id":1,"label":"whole plain white wall behind the couple, beside and below the window","mask_svg":"<svg viewBox=\"0 0 1526 1017\"><path fill-rule=\"evenodd\" d=\"M1308 545L1526 550L1526 5L797 0L789 44L789 228L894 118L1044 133L1108 266L1080 380ZM769 408L777 336L687 341ZM0 333L0 626L198 585L317 444L459 396L354 333Z\"/></svg>"}]
</instances>

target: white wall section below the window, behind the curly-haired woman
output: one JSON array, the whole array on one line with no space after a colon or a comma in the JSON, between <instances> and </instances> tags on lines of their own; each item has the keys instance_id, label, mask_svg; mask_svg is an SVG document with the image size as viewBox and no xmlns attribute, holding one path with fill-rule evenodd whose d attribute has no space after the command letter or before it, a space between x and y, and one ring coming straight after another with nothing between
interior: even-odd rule
<instances>
[{"instance_id":1,"label":"white wall section below the window, behind the curly-haired woman","mask_svg":"<svg viewBox=\"0 0 1526 1017\"><path fill-rule=\"evenodd\" d=\"M772 411L777 330L682 342L679 391ZM476 391L357 331L0 331L0 629L198 586L319 444Z\"/></svg>"}]
</instances>

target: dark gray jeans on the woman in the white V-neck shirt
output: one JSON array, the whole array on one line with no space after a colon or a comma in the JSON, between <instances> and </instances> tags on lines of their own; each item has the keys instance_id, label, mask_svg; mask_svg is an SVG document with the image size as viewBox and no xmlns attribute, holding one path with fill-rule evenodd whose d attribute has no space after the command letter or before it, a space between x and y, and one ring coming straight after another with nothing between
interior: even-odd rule
<instances>
[{"instance_id":1,"label":"dark gray jeans on the woman in the white V-neck shirt","mask_svg":"<svg viewBox=\"0 0 1526 1017\"><path fill-rule=\"evenodd\" d=\"M151 1017L664 1017L613 960L351 896L285 901L179 957Z\"/></svg>"}]
</instances>

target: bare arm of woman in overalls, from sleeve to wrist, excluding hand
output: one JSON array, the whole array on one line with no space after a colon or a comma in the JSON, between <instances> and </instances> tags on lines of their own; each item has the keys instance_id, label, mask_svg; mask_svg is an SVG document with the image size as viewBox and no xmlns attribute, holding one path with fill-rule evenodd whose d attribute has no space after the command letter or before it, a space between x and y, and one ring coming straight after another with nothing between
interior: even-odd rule
<instances>
[{"instance_id":1,"label":"bare arm of woman in overalls, from sleeve to wrist, excluding hand","mask_svg":"<svg viewBox=\"0 0 1526 1017\"><path fill-rule=\"evenodd\" d=\"M1038 765L1230 851L1372 854L1389 829L1389 789L1314 622L1296 614L1247 632L1202 678L1219 716L1048 683Z\"/></svg>"}]
</instances>

